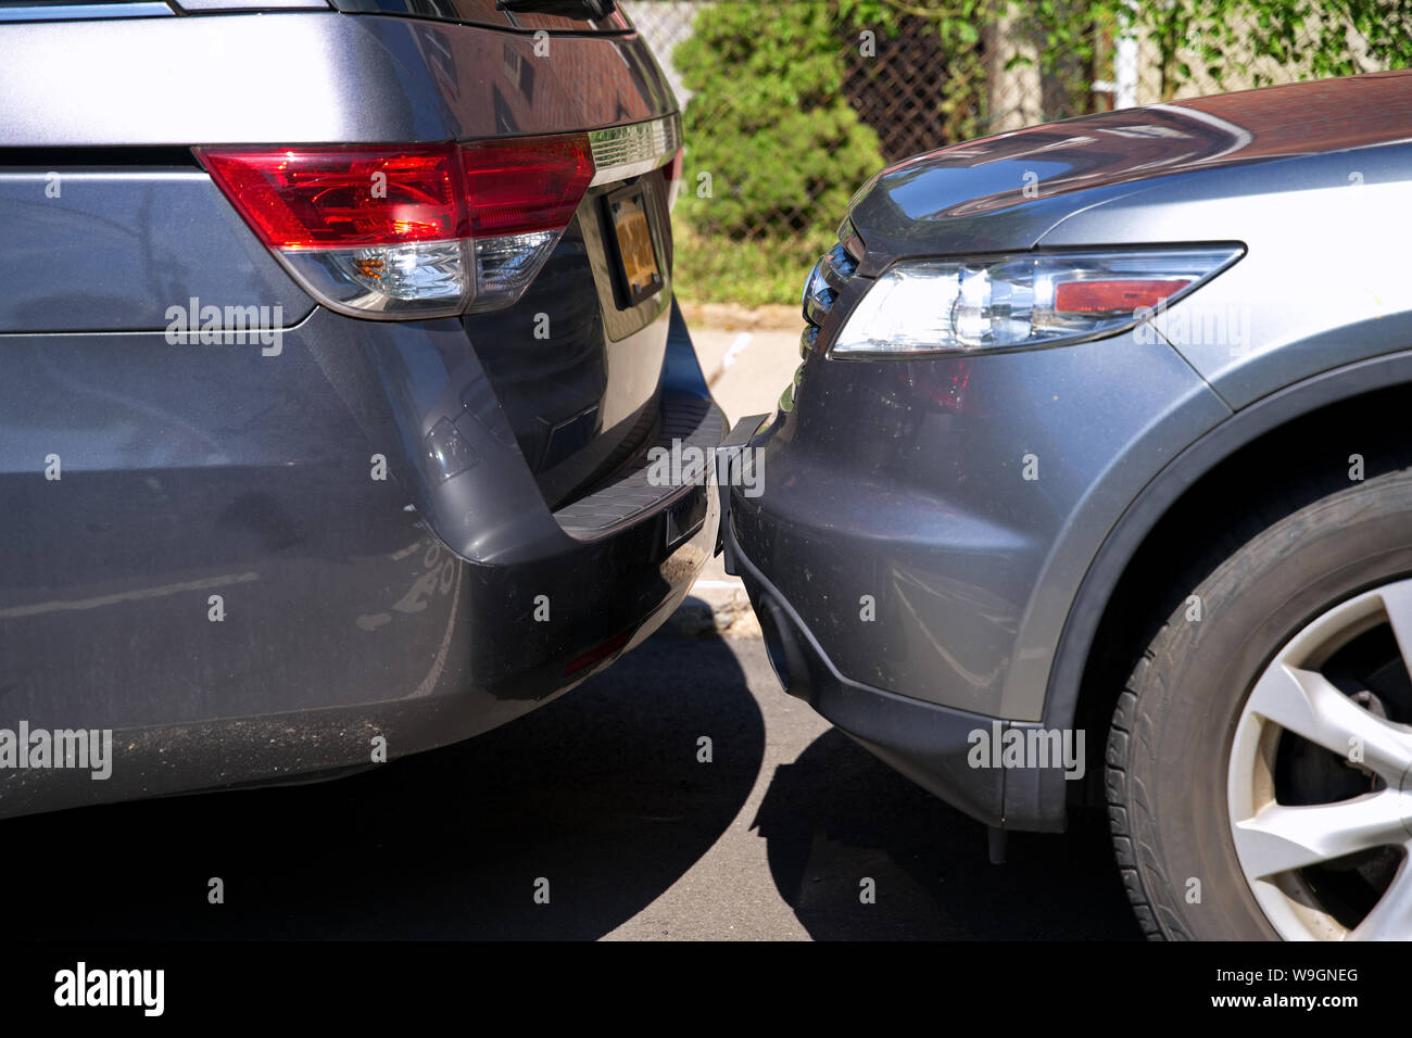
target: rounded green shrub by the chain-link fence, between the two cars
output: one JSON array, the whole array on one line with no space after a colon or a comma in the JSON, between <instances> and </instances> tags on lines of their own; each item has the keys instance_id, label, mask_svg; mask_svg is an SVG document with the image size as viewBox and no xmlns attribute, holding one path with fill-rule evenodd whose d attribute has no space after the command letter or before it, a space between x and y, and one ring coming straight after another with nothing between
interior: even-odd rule
<instances>
[{"instance_id":1,"label":"rounded green shrub by the chain-link fence, between the two cars","mask_svg":"<svg viewBox=\"0 0 1412 1038\"><path fill-rule=\"evenodd\" d=\"M794 302L853 192L882 167L843 95L829 3L722 3L674 55L693 96L678 284L695 299ZM748 299L747 299L748 297Z\"/></svg>"}]
</instances>

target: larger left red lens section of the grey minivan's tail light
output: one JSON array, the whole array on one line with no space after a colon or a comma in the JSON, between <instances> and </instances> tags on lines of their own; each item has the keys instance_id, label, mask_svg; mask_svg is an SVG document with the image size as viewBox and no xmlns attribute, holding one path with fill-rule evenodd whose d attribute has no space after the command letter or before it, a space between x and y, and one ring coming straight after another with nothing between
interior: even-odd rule
<instances>
[{"instance_id":1,"label":"larger left red lens section of the grey minivan's tail light","mask_svg":"<svg viewBox=\"0 0 1412 1038\"><path fill-rule=\"evenodd\" d=\"M349 249L466 236L453 144L195 151L271 249Z\"/></svg>"}]
</instances>

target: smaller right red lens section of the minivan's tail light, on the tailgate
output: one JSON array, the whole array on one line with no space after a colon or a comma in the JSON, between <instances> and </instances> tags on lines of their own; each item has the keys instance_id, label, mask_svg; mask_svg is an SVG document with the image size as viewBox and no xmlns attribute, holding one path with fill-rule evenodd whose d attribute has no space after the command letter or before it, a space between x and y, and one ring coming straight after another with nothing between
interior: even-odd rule
<instances>
[{"instance_id":1,"label":"smaller right red lens section of the minivan's tail light, on the tailgate","mask_svg":"<svg viewBox=\"0 0 1412 1038\"><path fill-rule=\"evenodd\" d=\"M476 237L562 230L593 179L586 134L473 141L460 153Z\"/></svg>"}]
</instances>

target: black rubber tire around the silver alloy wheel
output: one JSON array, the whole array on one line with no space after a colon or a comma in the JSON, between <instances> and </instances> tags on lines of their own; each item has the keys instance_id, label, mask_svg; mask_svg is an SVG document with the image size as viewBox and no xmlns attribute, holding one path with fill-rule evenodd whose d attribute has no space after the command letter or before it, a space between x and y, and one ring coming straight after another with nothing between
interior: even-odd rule
<instances>
[{"instance_id":1,"label":"black rubber tire around the silver alloy wheel","mask_svg":"<svg viewBox=\"0 0 1412 1038\"><path fill-rule=\"evenodd\" d=\"M1296 499L1300 496L1296 496ZM1134 667L1108 732L1108 819L1124 887L1152 939L1275 939L1236 856L1226 798L1231 740L1254 681L1305 624L1412 575L1412 472L1284 517L1262 517L1182 586L1187 599ZM1254 528L1254 532L1252 532ZM1193 531L1211 538L1233 531ZM1200 881L1200 900L1189 900Z\"/></svg>"}]
</instances>

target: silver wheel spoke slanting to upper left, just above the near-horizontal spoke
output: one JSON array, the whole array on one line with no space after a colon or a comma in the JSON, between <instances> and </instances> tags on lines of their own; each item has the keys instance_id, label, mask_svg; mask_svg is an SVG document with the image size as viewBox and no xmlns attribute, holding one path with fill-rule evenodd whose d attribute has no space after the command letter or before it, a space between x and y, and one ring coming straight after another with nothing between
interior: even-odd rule
<instances>
[{"instance_id":1,"label":"silver wheel spoke slanting to upper left, just above the near-horizontal spoke","mask_svg":"<svg viewBox=\"0 0 1412 1038\"><path fill-rule=\"evenodd\" d=\"M1340 757L1356 753L1388 785L1412 765L1412 730L1363 709L1317 671L1272 664L1248 709Z\"/></svg>"}]
</instances>

